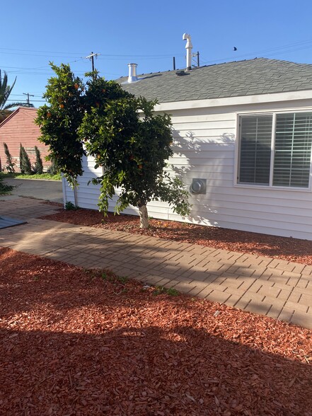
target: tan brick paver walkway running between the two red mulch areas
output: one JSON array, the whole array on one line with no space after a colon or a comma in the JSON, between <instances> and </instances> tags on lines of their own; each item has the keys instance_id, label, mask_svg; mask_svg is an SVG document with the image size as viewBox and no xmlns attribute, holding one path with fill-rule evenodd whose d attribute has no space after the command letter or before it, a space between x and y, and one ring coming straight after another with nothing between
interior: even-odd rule
<instances>
[{"instance_id":1,"label":"tan brick paver walkway running between the two red mulch areas","mask_svg":"<svg viewBox=\"0 0 312 416\"><path fill-rule=\"evenodd\" d=\"M27 204L25 204L27 202ZM0 246L120 276L312 328L312 266L35 217L54 207L35 200L0 202L0 215L28 224L0 230ZM41 205L41 206L40 206ZM22 218L22 219L23 219Z\"/></svg>"}]
</instances>

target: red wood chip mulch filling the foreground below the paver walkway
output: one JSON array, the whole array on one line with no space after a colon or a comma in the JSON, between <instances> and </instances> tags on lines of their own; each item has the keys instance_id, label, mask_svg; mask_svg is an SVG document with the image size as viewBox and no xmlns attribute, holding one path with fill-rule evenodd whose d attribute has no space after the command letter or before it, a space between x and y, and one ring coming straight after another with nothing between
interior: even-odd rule
<instances>
[{"instance_id":1,"label":"red wood chip mulch filling the foreground below the paver walkway","mask_svg":"<svg viewBox=\"0 0 312 416\"><path fill-rule=\"evenodd\" d=\"M1 415L312 415L311 330L0 249Z\"/></svg>"}]
</instances>

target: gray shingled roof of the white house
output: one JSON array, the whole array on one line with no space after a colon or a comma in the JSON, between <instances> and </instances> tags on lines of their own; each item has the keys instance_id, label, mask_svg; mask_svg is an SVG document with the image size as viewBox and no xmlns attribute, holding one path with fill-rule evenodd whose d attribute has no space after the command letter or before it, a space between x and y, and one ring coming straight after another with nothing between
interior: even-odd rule
<instances>
[{"instance_id":1,"label":"gray shingled roof of the white house","mask_svg":"<svg viewBox=\"0 0 312 416\"><path fill-rule=\"evenodd\" d=\"M176 71L139 75L140 81L123 88L135 96L159 103L204 100L312 89L312 64L255 58L192 69L184 76Z\"/></svg>"}]
</instances>

